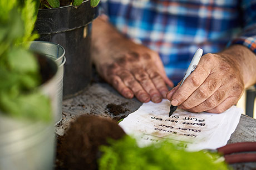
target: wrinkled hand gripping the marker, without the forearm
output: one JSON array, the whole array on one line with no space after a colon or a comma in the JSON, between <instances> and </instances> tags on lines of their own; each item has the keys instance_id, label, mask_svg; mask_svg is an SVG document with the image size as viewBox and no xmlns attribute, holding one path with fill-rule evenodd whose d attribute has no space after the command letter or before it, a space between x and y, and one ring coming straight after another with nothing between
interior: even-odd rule
<instances>
[{"instance_id":1,"label":"wrinkled hand gripping the marker, without the forearm","mask_svg":"<svg viewBox=\"0 0 256 170\"><path fill-rule=\"evenodd\" d=\"M183 85L168 92L171 104L191 112L212 113L221 113L237 104L244 83L237 63L231 58L221 53L202 56Z\"/></svg>"}]
</instances>

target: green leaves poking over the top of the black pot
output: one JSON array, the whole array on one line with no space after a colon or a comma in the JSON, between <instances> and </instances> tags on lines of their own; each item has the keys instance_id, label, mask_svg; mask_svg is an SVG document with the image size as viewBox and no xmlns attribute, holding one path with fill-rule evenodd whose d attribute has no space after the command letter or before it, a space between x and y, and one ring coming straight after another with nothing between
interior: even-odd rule
<instances>
[{"instance_id":1,"label":"green leaves poking over the top of the black pot","mask_svg":"<svg viewBox=\"0 0 256 170\"><path fill-rule=\"evenodd\" d=\"M73 5L75 7L80 6L84 0L40 0L41 8L58 8L61 6L61 1L65 5ZM96 7L100 0L90 0L91 7Z\"/></svg>"}]
</instances>

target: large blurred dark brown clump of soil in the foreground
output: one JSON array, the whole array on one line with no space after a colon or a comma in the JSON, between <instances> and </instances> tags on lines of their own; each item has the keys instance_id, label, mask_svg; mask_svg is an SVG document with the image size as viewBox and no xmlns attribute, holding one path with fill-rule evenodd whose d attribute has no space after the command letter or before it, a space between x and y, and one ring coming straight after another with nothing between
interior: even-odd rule
<instances>
[{"instance_id":1,"label":"large blurred dark brown clump of soil in the foreground","mask_svg":"<svg viewBox=\"0 0 256 170\"><path fill-rule=\"evenodd\" d=\"M55 169L97 169L99 146L107 139L125 135L114 120L83 115L72 122L64 136L58 136Z\"/></svg>"}]
</instances>

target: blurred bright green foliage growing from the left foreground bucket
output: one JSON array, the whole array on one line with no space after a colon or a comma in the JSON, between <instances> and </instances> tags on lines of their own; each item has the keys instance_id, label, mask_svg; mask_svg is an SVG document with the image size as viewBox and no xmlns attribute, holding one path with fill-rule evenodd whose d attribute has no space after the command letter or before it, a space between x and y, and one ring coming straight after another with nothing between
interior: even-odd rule
<instances>
[{"instance_id":1,"label":"blurred bright green foliage growing from the left foreground bucket","mask_svg":"<svg viewBox=\"0 0 256 170\"><path fill-rule=\"evenodd\" d=\"M41 94L39 65L27 50L38 4L34 0L0 1L0 112L12 117L51 120L50 100Z\"/></svg>"}]
</instances>

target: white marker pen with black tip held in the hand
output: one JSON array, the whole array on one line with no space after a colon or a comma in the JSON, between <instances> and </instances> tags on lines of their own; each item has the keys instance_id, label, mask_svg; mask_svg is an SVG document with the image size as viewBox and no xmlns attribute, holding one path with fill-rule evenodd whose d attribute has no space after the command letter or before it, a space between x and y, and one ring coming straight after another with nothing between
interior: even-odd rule
<instances>
[{"instance_id":1,"label":"white marker pen with black tip held in the hand","mask_svg":"<svg viewBox=\"0 0 256 170\"><path fill-rule=\"evenodd\" d=\"M185 80L186 78L188 78L188 76L195 70L195 68L196 68L196 66L198 65L198 63L199 63L199 61L200 61L202 55L203 55L203 50L202 50L202 49L199 48L198 50L196 50L195 55L193 56L193 59L192 59L190 65L189 65L188 70L186 70L185 76L184 76L183 80L181 81L180 86L183 84L184 80ZM179 86L179 87L180 87L180 86ZM173 115L173 112L175 112L175 110L177 109L177 107L178 107L178 106L173 106L173 105L171 105L171 107L170 107L170 112L169 112L169 117L170 117L171 115Z\"/></svg>"}]
</instances>

